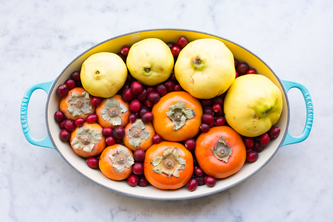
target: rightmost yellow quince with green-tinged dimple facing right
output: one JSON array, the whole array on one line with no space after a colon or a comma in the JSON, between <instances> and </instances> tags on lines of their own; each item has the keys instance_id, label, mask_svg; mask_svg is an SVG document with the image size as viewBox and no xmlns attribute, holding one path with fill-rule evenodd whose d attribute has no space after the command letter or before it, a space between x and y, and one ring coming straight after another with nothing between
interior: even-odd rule
<instances>
[{"instance_id":1,"label":"rightmost yellow quince with green-tinged dimple facing right","mask_svg":"<svg viewBox=\"0 0 333 222\"><path fill-rule=\"evenodd\" d=\"M266 133L279 120L282 93L263 75L243 75L229 87L223 106L227 123L237 133L256 137Z\"/></svg>"}]
</instances>

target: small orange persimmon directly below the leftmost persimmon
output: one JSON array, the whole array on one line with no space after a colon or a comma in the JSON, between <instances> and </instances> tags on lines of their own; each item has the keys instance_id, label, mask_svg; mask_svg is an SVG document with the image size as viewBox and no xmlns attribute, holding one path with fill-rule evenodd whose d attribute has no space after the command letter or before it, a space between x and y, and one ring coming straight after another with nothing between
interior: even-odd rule
<instances>
[{"instance_id":1,"label":"small orange persimmon directly below the leftmost persimmon","mask_svg":"<svg viewBox=\"0 0 333 222\"><path fill-rule=\"evenodd\" d=\"M74 152L81 157L93 157L102 153L106 147L105 136L98 123L85 122L71 133L70 143ZM95 130L95 131L93 131Z\"/></svg>"}]
</instances>

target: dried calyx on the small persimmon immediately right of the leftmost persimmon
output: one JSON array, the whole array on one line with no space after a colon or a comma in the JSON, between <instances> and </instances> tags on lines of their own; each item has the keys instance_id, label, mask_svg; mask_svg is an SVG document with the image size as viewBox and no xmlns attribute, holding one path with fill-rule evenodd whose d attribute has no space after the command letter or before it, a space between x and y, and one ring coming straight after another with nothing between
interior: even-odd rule
<instances>
[{"instance_id":1,"label":"dried calyx on the small persimmon immediately right of the leftmost persimmon","mask_svg":"<svg viewBox=\"0 0 333 222\"><path fill-rule=\"evenodd\" d=\"M122 113L125 113L128 109L122 103L118 103L115 98L108 98L105 101L105 108L102 109L102 118L105 121L109 121L112 125L118 126L122 124Z\"/></svg>"}]
</instances>

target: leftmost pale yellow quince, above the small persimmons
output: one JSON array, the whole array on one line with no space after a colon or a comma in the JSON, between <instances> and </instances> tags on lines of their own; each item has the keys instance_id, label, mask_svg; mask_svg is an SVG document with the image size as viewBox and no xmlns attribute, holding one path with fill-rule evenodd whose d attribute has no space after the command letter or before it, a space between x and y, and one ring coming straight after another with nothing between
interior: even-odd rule
<instances>
[{"instance_id":1,"label":"leftmost pale yellow quince, above the small persimmons","mask_svg":"<svg viewBox=\"0 0 333 222\"><path fill-rule=\"evenodd\" d=\"M96 53L83 62L80 77L83 88L91 95L109 98L125 84L127 67L114 53Z\"/></svg>"}]
</instances>

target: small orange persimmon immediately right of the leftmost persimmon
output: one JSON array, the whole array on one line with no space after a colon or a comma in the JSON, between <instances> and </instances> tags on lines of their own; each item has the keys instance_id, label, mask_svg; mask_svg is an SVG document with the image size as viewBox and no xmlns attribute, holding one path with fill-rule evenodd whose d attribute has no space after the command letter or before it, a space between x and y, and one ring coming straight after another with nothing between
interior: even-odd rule
<instances>
[{"instance_id":1,"label":"small orange persimmon immediately right of the leftmost persimmon","mask_svg":"<svg viewBox=\"0 0 333 222\"><path fill-rule=\"evenodd\" d=\"M121 95L114 95L102 99L101 104L96 107L96 114L98 123L103 128L125 127L129 123L128 116L131 114L130 104L125 102Z\"/></svg>"}]
</instances>

